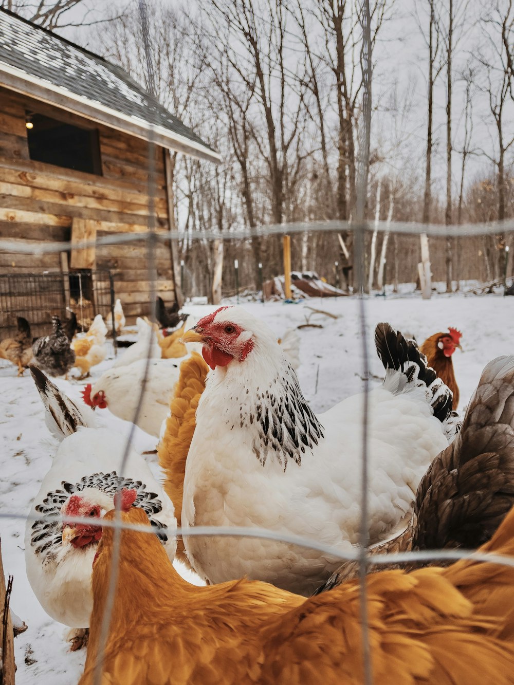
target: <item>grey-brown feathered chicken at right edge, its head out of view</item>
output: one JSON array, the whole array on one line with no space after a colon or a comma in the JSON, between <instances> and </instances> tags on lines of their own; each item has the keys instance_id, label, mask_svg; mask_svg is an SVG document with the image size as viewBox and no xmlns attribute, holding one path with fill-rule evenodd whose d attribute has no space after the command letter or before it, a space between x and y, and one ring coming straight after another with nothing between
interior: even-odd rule
<instances>
[{"instance_id":1,"label":"grey-brown feathered chicken at right edge, its head out of view","mask_svg":"<svg viewBox=\"0 0 514 685\"><path fill-rule=\"evenodd\" d=\"M491 539L512 506L514 356L504 356L487 364L467 407L461 432L421 479L407 529L371 551L476 549ZM391 568L377 564L369 570ZM356 562L345 562L317 593L357 573Z\"/></svg>"}]
</instances>

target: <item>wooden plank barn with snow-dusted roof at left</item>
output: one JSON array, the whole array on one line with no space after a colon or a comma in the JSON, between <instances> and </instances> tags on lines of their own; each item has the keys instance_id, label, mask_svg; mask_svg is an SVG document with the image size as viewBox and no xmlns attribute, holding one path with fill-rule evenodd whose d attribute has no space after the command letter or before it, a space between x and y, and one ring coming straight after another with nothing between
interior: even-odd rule
<instances>
[{"instance_id":1,"label":"wooden plank barn with snow-dusted roof at left","mask_svg":"<svg viewBox=\"0 0 514 685\"><path fill-rule=\"evenodd\" d=\"M118 66L0 10L0 337L41 288L34 334L60 309L51 297L45 305L45 292L94 309L109 279L127 322L149 312L143 240L79 245L112 234L143 237L149 208L158 232L175 229L169 151L219 162ZM73 247L23 251L51 242ZM158 241L156 289L167 303L180 303L177 263L173 241Z\"/></svg>"}]
</instances>

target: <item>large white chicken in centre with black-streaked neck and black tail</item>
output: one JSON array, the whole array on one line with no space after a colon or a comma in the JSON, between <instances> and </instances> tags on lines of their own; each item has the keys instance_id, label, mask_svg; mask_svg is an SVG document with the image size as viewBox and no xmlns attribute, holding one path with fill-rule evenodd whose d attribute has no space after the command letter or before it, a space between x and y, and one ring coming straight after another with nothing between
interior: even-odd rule
<instances>
[{"instance_id":1,"label":"large white chicken in centre with black-streaked neck and black tail","mask_svg":"<svg viewBox=\"0 0 514 685\"><path fill-rule=\"evenodd\" d=\"M239 307L205 316L183 339L204 345L212 371L186 461L182 527L259 526L350 549L360 530L363 396L315 416L269 327ZM414 343L380 324L376 344L387 375L369 393L371 544L405 527L419 480L448 445L452 408ZM212 584L247 575L309 595L340 564L258 538L184 536L184 544Z\"/></svg>"}]
</instances>

